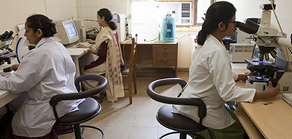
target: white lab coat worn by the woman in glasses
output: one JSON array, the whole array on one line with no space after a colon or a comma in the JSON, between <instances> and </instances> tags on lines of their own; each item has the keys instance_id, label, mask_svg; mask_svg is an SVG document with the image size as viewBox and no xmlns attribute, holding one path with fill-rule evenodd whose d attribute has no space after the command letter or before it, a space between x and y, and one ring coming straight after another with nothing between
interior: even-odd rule
<instances>
[{"instance_id":1,"label":"white lab coat worn by the woman in glasses","mask_svg":"<svg viewBox=\"0 0 292 139\"><path fill-rule=\"evenodd\" d=\"M206 104L206 117L202 124L213 129L224 129L235 120L225 109L226 101L252 102L254 89L235 86L231 57L225 46L208 35L203 46L198 46L190 66L188 86L181 98L201 98ZM199 122L196 106L173 105L174 113L181 113Z\"/></svg>"}]
</instances>

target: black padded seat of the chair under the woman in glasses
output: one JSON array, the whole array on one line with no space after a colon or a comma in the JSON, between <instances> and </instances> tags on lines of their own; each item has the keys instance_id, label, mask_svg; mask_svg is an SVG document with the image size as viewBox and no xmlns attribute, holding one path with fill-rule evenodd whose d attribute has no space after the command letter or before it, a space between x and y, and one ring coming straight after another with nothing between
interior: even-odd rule
<instances>
[{"instance_id":1,"label":"black padded seat of the chair under the woman in glasses","mask_svg":"<svg viewBox=\"0 0 292 139\"><path fill-rule=\"evenodd\" d=\"M202 131L206 129L206 127L195 122L194 120L180 115L178 113L172 113L172 105L165 104L161 106L159 111L156 114L156 119L163 126L175 130L175 131L185 131L185 132L194 132L194 131Z\"/></svg>"}]
</instances>

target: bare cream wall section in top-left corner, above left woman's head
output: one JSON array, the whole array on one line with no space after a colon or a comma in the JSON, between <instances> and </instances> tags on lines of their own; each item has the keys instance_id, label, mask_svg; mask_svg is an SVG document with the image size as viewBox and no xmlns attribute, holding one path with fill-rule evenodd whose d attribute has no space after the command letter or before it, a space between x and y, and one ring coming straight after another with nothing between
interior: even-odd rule
<instances>
[{"instance_id":1,"label":"bare cream wall section in top-left corner, above left woman's head","mask_svg":"<svg viewBox=\"0 0 292 139\"><path fill-rule=\"evenodd\" d=\"M46 13L44 0L0 0L0 3L0 34L13 30L14 36L18 33L17 24L24 24L30 15Z\"/></svg>"}]
</instances>

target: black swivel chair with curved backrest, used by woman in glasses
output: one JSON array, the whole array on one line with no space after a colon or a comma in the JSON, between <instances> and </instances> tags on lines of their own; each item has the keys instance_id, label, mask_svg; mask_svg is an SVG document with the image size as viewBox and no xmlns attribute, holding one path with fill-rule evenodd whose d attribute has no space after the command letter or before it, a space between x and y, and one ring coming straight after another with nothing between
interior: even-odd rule
<instances>
[{"instance_id":1,"label":"black swivel chair with curved backrest, used by woman in glasses","mask_svg":"<svg viewBox=\"0 0 292 139\"><path fill-rule=\"evenodd\" d=\"M192 134L193 136L196 136L196 138L202 139L203 137L197 135L195 132L207 129L202 125L202 120L206 116L206 106L204 102L199 98L170 97L161 95L154 91L156 87L170 84L179 84L183 88L184 86L186 86L187 83L180 78L166 78L161 80L155 80L154 82L151 82L147 87L147 94L150 98L158 102L165 103L165 105L161 106L159 111L157 111L156 120L158 120L159 123L162 124L164 127L175 130L174 132L166 133L165 135L161 136L161 138L173 133L179 133L180 139L186 139L187 134ZM179 93L180 92L178 92L178 94ZM172 113L172 104L197 106L199 108L197 114L200 118L200 122L197 123L184 115Z\"/></svg>"}]
</instances>

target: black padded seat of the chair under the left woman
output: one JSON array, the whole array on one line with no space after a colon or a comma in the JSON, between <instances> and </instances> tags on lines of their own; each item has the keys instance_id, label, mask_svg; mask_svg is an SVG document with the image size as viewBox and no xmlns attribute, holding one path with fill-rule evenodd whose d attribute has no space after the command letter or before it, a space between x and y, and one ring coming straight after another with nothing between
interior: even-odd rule
<instances>
[{"instance_id":1,"label":"black padded seat of the chair under the left woman","mask_svg":"<svg viewBox=\"0 0 292 139\"><path fill-rule=\"evenodd\" d=\"M94 118L101 110L102 107L93 98L86 98L86 101L79 104L79 111L67 113L59 118L59 124L72 124L86 122Z\"/></svg>"}]
</instances>

